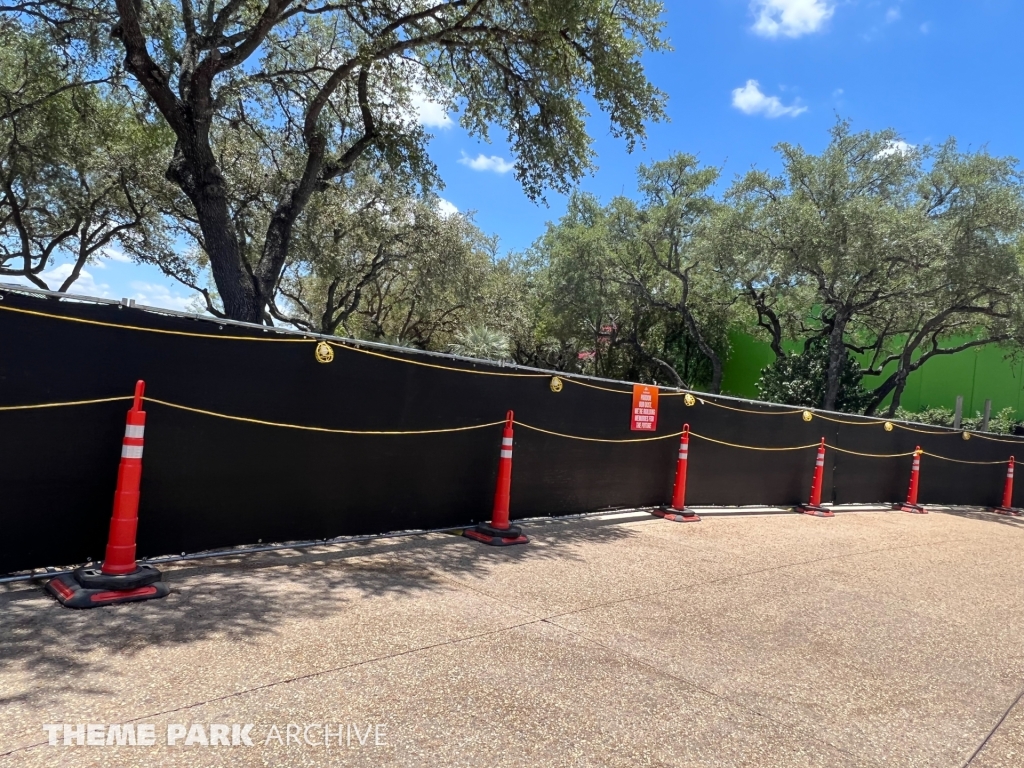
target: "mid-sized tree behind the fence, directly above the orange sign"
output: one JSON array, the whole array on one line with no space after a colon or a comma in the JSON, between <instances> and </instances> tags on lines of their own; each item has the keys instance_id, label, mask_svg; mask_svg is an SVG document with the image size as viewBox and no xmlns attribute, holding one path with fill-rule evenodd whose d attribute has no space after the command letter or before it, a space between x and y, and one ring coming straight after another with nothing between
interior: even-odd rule
<instances>
[{"instance_id":1,"label":"mid-sized tree behind the fence, directly above the orange sign","mask_svg":"<svg viewBox=\"0 0 1024 768\"><path fill-rule=\"evenodd\" d=\"M580 370L717 390L734 303L702 238L717 178L677 155L640 167L638 201L574 195L534 249L542 346Z\"/></svg>"}]
</instances>

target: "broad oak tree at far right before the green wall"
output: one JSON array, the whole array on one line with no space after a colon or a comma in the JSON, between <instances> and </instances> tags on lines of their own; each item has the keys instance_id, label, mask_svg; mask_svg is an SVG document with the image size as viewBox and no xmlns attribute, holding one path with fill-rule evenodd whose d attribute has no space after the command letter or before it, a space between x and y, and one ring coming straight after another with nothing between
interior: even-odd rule
<instances>
[{"instance_id":1,"label":"broad oak tree at far right before the green wall","mask_svg":"<svg viewBox=\"0 0 1024 768\"><path fill-rule=\"evenodd\" d=\"M892 394L937 354L1018 333L1024 177L1013 158L912 147L892 130L831 130L820 155L779 144L782 173L751 171L726 195L726 273L781 358L783 335L827 340L818 404L835 409L849 352Z\"/></svg>"}]
</instances>

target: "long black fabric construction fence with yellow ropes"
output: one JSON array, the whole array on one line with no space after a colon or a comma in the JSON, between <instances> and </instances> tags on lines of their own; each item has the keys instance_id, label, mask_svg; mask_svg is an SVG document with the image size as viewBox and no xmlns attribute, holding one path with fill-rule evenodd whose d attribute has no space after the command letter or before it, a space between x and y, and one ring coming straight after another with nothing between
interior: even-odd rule
<instances>
[{"instance_id":1,"label":"long black fabric construction fence with yellow ropes","mask_svg":"<svg viewBox=\"0 0 1024 768\"><path fill-rule=\"evenodd\" d=\"M684 423L690 506L807 501L821 437L824 503L903 501L921 445L923 504L996 506L1024 444L671 389L644 433L623 382L0 294L0 572L101 556L139 379L140 557L487 520L509 410L514 518L666 503Z\"/></svg>"}]
</instances>

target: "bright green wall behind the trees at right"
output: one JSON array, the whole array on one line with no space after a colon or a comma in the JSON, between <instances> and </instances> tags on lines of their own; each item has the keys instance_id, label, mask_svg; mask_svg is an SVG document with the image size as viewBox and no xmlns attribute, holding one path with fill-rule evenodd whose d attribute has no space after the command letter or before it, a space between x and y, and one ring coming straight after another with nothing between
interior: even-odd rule
<instances>
[{"instance_id":1,"label":"bright green wall behind the trees at right","mask_svg":"<svg viewBox=\"0 0 1024 768\"><path fill-rule=\"evenodd\" d=\"M722 391L756 398L761 369L770 364L775 354L766 342L739 330L729 334L729 341L732 350L724 366ZM796 351L799 345L787 343L785 347ZM983 411L985 399L991 398L993 414L1012 406L1018 418L1024 418L1024 360L1008 359L1008 355L1007 349L985 346L933 357L910 374L900 404L915 412L940 406L952 409L956 395L962 394L965 416ZM891 368L883 376L865 377L864 385L878 386L885 381Z\"/></svg>"}]
</instances>

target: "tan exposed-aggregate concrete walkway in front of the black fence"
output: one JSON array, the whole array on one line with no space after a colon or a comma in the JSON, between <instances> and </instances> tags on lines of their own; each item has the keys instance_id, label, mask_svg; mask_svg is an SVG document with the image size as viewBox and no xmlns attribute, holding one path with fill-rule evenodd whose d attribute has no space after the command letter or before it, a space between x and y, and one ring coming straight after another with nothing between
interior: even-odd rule
<instances>
[{"instance_id":1,"label":"tan exposed-aggregate concrete walkway in front of the black fence","mask_svg":"<svg viewBox=\"0 0 1024 768\"><path fill-rule=\"evenodd\" d=\"M1024 766L1020 519L529 532L182 563L167 599L90 611L9 589L0 765Z\"/></svg>"}]
</instances>

